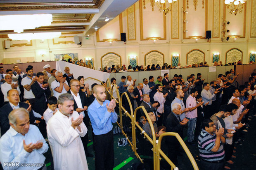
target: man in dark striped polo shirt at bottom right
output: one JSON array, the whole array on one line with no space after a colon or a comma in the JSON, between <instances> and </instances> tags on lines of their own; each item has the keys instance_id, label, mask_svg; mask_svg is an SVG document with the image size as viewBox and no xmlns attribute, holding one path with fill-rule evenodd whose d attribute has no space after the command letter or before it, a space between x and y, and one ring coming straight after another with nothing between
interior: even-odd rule
<instances>
[{"instance_id":1,"label":"man in dark striped polo shirt at bottom right","mask_svg":"<svg viewBox=\"0 0 256 170\"><path fill-rule=\"evenodd\" d=\"M224 129L216 130L211 119L205 119L202 122L202 127L198 137L198 149L201 157L200 170L222 170L225 166Z\"/></svg>"}]
</instances>

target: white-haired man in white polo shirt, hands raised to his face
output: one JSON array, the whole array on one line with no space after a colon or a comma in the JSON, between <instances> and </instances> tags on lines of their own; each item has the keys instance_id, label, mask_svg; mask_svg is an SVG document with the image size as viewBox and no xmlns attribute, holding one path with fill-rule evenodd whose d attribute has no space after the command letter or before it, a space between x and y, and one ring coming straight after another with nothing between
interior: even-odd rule
<instances>
[{"instance_id":1,"label":"white-haired man in white polo shirt, hands raised to his face","mask_svg":"<svg viewBox=\"0 0 256 170\"><path fill-rule=\"evenodd\" d=\"M61 71L56 71L55 73L56 80L52 82L51 89L53 91L53 96L57 99L59 95L64 94L69 91L70 87L66 78L62 76Z\"/></svg>"}]
</instances>

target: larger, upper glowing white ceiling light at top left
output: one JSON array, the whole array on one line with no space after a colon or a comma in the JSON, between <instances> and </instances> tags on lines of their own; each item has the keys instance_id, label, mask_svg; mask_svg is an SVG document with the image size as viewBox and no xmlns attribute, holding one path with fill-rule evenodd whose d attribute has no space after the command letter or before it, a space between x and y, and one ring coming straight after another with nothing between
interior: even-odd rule
<instances>
[{"instance_id":1,"label":"larger, upper glowing white ceiling light at top left","mask_svg":"<svg viewBox=\"0 0 256 170\"><path fill-rule=\"evenodd\" d=\"M52 23L52 14L33 15L3 15L0 16L0 30L14 30L21 33L24 30L49 26Z\"/></svg>"}]
</instances>

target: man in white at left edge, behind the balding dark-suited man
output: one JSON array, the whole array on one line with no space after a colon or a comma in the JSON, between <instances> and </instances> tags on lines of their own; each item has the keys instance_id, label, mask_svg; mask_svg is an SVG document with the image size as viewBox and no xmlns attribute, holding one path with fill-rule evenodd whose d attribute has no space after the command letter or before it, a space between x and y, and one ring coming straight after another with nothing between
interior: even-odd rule
<instances>
[{"instance_id":1,"label":"man in white at left edge, behind the balding dark-suited man","mask_svg":"<svg viewBox=\"0 0 256 170\"><path fill-rule=\"evenodd\" d=\"M2 93L4 94L5 101L9 101L9 99L7 99L7 92L11 89L16 89L18 90L19 94L21 94L18 83L12 82L12 76L7 74L5 75L5 83L1 85L1 90L2 90Z\"/></svg>"}]
</instances>

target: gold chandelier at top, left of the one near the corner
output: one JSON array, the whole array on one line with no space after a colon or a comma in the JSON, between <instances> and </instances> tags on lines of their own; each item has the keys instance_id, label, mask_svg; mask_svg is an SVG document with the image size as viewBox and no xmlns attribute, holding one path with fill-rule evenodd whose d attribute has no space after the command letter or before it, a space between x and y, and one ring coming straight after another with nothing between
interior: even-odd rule
<instances>
[{"instance_id":1,"label":"gold chandelier at top, left of the one near the corner","mask_svg":"<svg viewBox=\"0 0 256 170\"><path fill-rule=\"evenodd\" d=\"M154 6L156 3L156 6L159 7L160 12L164 12L166 15L168 12L172 10L172 4L175 3L177 0L150 0L151 6L152 6L152 11L154 11ZM145 0L144 2L144 9L145 9ZM169 3L169 7L167 7L167 2Z\"/></svg>"}]
</instances>

